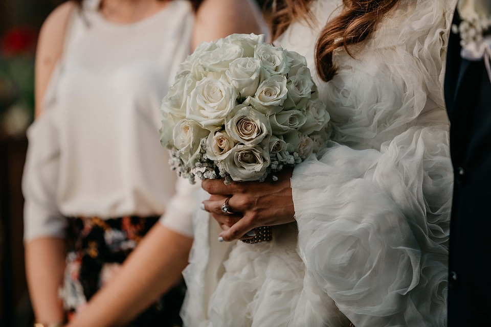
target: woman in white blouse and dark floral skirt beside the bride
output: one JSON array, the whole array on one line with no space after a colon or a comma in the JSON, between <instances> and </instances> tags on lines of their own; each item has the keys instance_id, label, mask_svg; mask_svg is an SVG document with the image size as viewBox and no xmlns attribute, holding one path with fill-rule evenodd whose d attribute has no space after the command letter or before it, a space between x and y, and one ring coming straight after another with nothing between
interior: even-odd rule
<instances>
[{"instance_id":1,"label":"woman in white blouse and dark floral skirt beside the bride","mask_svg":"<svg viewBox=\"0 0 491 327\"><path fill-rule=\"evenodd\" d=\"M194 202L159 143L160 102L197 44L258 33L257 15L239 0L83 0L44 22L23 180L26 269L40 323L56 325L81 308L161 216L154 232L165 250L154 261L173 258L173 269L125 310L135 317L180 281ZM129 298L150 273L130 272L111 295Z\"/></svg>"}]
</instances>

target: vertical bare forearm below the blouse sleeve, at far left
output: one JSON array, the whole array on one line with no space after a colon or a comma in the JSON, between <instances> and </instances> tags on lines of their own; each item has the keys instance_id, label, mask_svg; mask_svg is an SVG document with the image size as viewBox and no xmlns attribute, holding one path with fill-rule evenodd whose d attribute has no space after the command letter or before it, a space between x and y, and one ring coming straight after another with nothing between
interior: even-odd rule
<instances>
[{"instance_id":1,"label":"vertical bare forearm below the blouse sleeve, at far left","mask_svg":"<svg viewBox=\"0 0 491 327\"><path fill-rule=\"evenodd\" d=\"M26 243L26 276L36 320L52 323L64 320L58 288L63 282L65 242L59 238L38 238Z\"/></svg>"}]
</instances>

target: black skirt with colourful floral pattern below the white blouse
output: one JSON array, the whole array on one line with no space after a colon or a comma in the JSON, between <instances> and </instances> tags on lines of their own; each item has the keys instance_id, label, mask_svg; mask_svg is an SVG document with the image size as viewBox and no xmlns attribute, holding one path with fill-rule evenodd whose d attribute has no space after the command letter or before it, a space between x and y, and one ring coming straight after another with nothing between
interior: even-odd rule
<instances>
[{"instance_id":1,"label":"black skirt with colourful floral pattern below the white blouse","mask_svg":"<svg viewBox=\"0 0 491 327\"><path fill-rule=\"evenodd\" d=\"M68 254L60 297L69 319L119 270L121 263L159 218L68 218ZM179 311L185 292L182 282L128 326L181 326Z\"/></svg>"}]
</instances>

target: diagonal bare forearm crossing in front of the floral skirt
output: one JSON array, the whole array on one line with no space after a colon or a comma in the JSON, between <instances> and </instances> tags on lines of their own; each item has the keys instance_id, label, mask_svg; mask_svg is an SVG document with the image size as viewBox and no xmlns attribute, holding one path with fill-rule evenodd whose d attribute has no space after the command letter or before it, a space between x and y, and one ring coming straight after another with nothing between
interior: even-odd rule
<instances>
[{"instance_id":1,"label":"diagonal bare forearm crossing in front of the floral skirt","mask_svg":"<svg viewBox=\"0 0 491 327\"><path fill-rule=\"evenodd\" d=\"M155 224L69 326L120 326L135 318L180 281L191 244L191 238Z\"/></svg>"}]
</instances>

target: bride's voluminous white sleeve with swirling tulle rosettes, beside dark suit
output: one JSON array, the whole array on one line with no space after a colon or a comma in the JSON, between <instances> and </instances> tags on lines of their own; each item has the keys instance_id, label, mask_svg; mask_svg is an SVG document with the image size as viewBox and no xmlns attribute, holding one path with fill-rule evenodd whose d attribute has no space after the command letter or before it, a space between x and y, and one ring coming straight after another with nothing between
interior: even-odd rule
<instances>
[{"instance_id":1,"label":"bride's voluminous white sleeve with swirling tulle rosettes, beside dark suit","mask_svg":"<svg viewBox=\"0 0 491 327\"><path fill-rule=\"evenodd\" d=\"M446 325L454 5L401 3L356 59L335 56L340 72L319 90L334 142L294 170L304 293L322 289L356 326Z\"/></svg>"}]
</instances>

